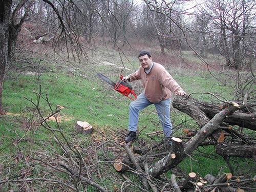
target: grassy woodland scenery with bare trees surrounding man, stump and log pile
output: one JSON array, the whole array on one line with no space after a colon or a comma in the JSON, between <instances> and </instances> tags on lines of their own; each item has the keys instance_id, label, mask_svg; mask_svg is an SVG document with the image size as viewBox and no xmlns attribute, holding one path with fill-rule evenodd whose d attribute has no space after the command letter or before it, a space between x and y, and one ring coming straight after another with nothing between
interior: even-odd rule
<instances>
[{"instance_id":1,"label":"grassy woodland scenery with bare trees surrounding man, stump and log pile","mask_svg":"<svg viewBox=\"0 0 256 192\"><path fill-rule=\"evenodd\" d=\"M136 71L141 50L150 51L188 95L247 104L255 121L255 12L255 1L241 0L0 1L0 188L141 191L135 169L124 175L112 166L124 156L119 143L130 100L95 75L117 81ZM132 86L143 90L140 82ZM172 109L171 117L177 137L200 130L179 110ZM93 134L75 133L77 121L91 123ZM145 110L137 144L160 143L160 127L154 108ZM254 130L234 129L255 146ZM195 152L178 171L151 182L173 191L168 181L174 173L219 177L236 166L233 180L245 181L237 188L255 190L255 157L223 160L214 145Z\"/></svg>"}]
</instances>

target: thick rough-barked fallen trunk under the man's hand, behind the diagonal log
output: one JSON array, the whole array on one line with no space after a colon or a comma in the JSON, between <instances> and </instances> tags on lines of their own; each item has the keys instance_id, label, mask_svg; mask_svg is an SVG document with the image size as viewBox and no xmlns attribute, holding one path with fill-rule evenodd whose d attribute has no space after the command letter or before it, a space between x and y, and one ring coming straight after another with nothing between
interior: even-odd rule
<instances>
[{"instance_id":1,"label":"thick rough-barked fallen trunk under the man's hand, behind the diagonal log","mask_svg":"<svg viewBox=\"0 0 256 192\"><path fill-rule=\"evenodd\" d=\"M189 96L176 97L173 100L173 106L195 119L200 127L204 126L209 119L212 119L217 113L223 110L220 108L219 103L205 103ZM256 112L245 113L240 110L228 115L223 120L225 123L256 131L255 119Z\"/></svg>"}]
</instances>

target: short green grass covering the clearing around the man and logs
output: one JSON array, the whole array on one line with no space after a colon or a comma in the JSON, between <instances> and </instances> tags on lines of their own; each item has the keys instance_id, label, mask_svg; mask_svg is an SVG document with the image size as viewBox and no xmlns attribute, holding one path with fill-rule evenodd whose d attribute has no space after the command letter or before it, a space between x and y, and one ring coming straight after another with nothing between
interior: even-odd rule
<instances>
[{"instance_id":1,"label":"short green grass covering the clearing around the man and logs","mask_svg":"<svg viewBox=\"0 0 256 192\"><path fill-rule=\"evenodd\" d=\"M109 59L112 61L111 56ZM121 64L119 63L119 65ZM132 63L125 62L125 65L127 68L133 68L138 66L138 63L135 61L132 61ZM85 156L85 161L88 161L90 165L87 168L88 172L91 171L93 179L108 187L110 191L114 191L116 187L114 186L115 180L120 178L116 176L112 165L105 163L97 165L98 168L100 167L99 173L101 172L102 174L106 170L110 173L108 179L103 180L98 175L99 173L92 168L95 166L92 165L92 161L97 159L102 161L114 160L116 154L118 154L117 151L121 150L115 145L114 147L108 147L106 151L95 152L95 148L102 141L106 141L106 138L114 143L122 141L123 138L118 132L127 128L131 100L115 92L105 82L98 79L95 74L101 72L112 80L117 81L120 69L111 66L88 65L83 66L84 69L79 68L79 66L72 66L73 69L67 71L66 67L56 68L54 65L49 65L48 67L48 72L43 73L40 78L15 72L11 72L6 76L3 105L8 114L0 118L0 160L2 161L0 165L8 167L10 166L8 163L12 161L10 166L12 167L12 173L3 172L3 174L6 175L6 178L12 179L15 179L16 176L23 178L23 173L25 172L30 177L42 177L44 174L47 176L52 174L50 176L52 178L61 177L65 180L65 174L55 173L53 170L47 169L47 166L43 163L35 164L36 160L33 160L41 158L47 161L44 154L49 159L67 158L66 153L54 141L55 136L53 133L40 126L42 118L38 117L35 105L32 102L37 103L37 94L41 94L39 109L45 118L51 113L50 106L53 111L55 111L57 105L63 106L59 113L62 120L59 124L56 124L55 121L48 121L49 125L54 129L61 129L73 146L80 147L79 149ZM131 73L131 70L124 70L122 74L127 75L129 73ZM192 96L197 99L218 101L216 97L202 94L202 92L211 92L216 95L225 94L226 98L230 96L230 90L220 86L215 78L208 75L208 72L193 71L192 73L191 71L176 69L170 70L170 73L187 94L194 93ZM195 75L195 73L198 75ZM137 84L135 86L139 87ZM137 87L136 89L140 90ZM42 98L48 98L50 105ZM177 110L172 109L171 117L174 126L182 122L187 122L189 127L195 126L195 122L191 121L190 117ZM74 125L78 120L87 121L93 125L95 132L92 136L84 136L74 132ZM146 128L143 129L143 127ZM147 142L152 142L152 139L154 142L162 139L162 136L152 138L146 135L146 133L161 130L153 105L141 111L138 129L140 131L143 129L140 137ZM175 127L175 134L182 134L179 126ZM57 136L61 137L60 133L57 133ZM214 148L202 148L202 150L205 153L212 154L211 157L214 158L201 157L199 153L195 152L193 158L187 158L179 165L180 168L187 173L193 171L203 176L208 173L217 175L220 171L228 171L228 168L223 166L225 164L223 159L214 156L216 153ZM58 158L54 157L55 155ZM216 164L216 162L218 163ZM29 166L33 167L33 170ZM132 177L134 177L134 180L137 179L136 175L132 175ZM39 184L40 182L37 181L35 183ZM12 186L14 190L15 187L18 188L15 184ZM4 185L4 188L7 189L8 186ZM91 186L87 190L96 191Z\"/></svg>"}]
</instances>

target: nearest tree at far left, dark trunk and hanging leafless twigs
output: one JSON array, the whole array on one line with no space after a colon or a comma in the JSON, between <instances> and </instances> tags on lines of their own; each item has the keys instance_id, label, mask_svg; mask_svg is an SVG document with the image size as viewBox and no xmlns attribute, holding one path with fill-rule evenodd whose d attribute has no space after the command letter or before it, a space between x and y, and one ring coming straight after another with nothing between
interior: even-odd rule
<instances>
[{"instance_id":1,"label":"nearest tree at far left, dark trunk and hanging leafless twigs","mask_svg":"<svg viewBox=\"0 0 256 192\"><path fill-rule=\"evenodd\" d=\"M65 44L67 48L70 45L74 46L75 44L72 43L74 39L73 38L74 33L68 33L68 29L65 26L65 21L66 21L66 24L69 24L69 19L73 18L72 14L70 15L70 12L67 11L68 9L65 9L66 1L63 1L63 2L59 1L58 4L56 5L54 5L54 3L52 3L49 0L42 0L42 2L45 2L47 5L49 5L49 7L53 10L53 12L56 13L57 15L57 17L54 18L54 19L57 18L59 23L58 28L55 29L56 31L60 29L60 33L57 36L60 37L61 35L63 35L65 36L66 40L67 38L71 39L71 44L69 45L67 43ZM1 36L0 37L0 47L1 47L1 51L0 51L0 64L1 64L0 66L0 112L1 113L3 113L2 95L3 95L3 83L4 83L6 70L10 67L14 59L17 37L22 25L24 24L25 20L32 15L33 11L35 10L37 10L38 12L40 11L39 9L36 8L36 5L38 5L36 3L38 3L36 0L20 0L20 1L1 0L0 1L0 7L1 7L0 9L0 36ZM74 4L69 2L69 5L73 6ZM60 15L57 8L61 8L63 10L63 15ZM40 14L44 14L44 15L46 14L44 18L49 18L48 12L40 13ZM68 25L68 26L72 26L72 25ZM57 41L60 40L60 38L58 37L56 37ZM77 40L78 39L75 38L75 41Z\"/></svg>"}]
</instances>

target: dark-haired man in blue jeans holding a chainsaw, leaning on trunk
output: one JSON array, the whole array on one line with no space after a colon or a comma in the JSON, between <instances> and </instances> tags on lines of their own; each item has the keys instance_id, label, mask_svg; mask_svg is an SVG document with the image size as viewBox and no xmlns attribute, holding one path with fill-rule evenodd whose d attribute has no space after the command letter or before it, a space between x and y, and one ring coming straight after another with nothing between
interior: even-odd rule
<instances>
[{"instance_id":1,"label":"dark-haired man in blue jeans holding a chainsaw, leaning on trunk","mask_svg":"<svg viewBox=\"0 0 256 192\"><path fill-rule=\"evenodd\" d=\"M152 61L151 54L147 51L139 53L139 70L124 77L127 81L142 80L144 92L137 99L130 103L130 116L128 130L130 133L124 140L126 143L136 139L139 111L146 106L154 104L158 117L163 127L164 138L172 135L172 123L170 121L170 96L183 96L186 93L179 84L166 71L166 69L157 62Z\"/></svg>"}]
</instances>

